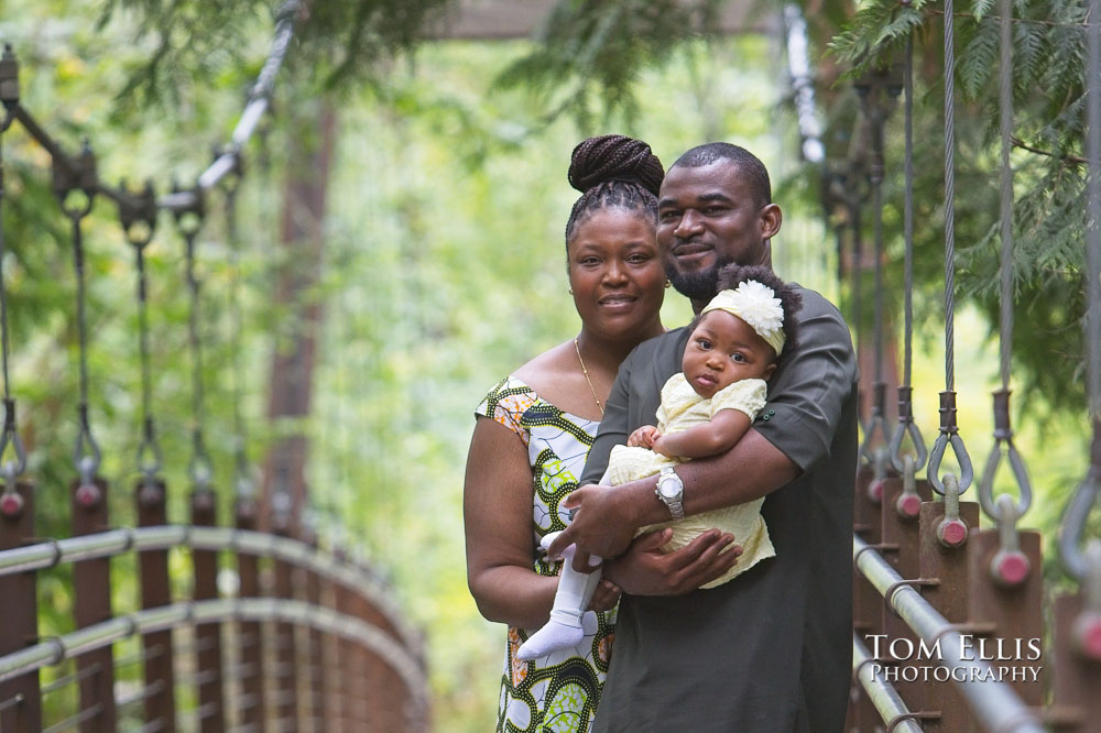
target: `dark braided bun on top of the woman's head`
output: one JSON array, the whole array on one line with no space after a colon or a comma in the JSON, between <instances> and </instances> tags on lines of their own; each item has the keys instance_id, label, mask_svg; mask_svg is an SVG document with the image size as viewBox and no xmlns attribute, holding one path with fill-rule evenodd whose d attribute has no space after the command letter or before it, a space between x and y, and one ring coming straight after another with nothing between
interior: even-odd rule
<instances>
[{"instance_id":1,"label":"dark braided bun on top of the woman's head","mask_svg":"<svg viewBox=\"0 0 1101 733\"><path fill-rule=\"evenodd\" d=\"M609 180L633 180L657 196L665 177L650 145L626 135L582 140L569 158L569 185L582 194Z\"/></svg>"}]
</instances>

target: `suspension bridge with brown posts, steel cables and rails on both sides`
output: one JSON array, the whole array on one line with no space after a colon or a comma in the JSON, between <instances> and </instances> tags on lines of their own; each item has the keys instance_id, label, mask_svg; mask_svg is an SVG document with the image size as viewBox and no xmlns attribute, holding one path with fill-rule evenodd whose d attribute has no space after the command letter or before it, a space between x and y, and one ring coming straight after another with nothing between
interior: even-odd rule
<instances>
[{"instance_id":1,"label":"suspension bridge with brown posts, steel cables and rails on both sides","mask_svg":"<svg viewBox=\"0 0 1101 733\"><path fill-rule=\"evenodd\" d=\"M1098 10L1094 3L1093 10ZM246 436L239 438L236 504L231 523L216 516L214 469L204 431L204 341L199 332L200 287L195 271L196 239L220 194L227 239L236 230L235 196L244 176L246 146L270 113L271 95L294 35L298 6L276 15L270 54L229 141L194 185L155 195L111 187L97 175L90 145L67 153L34 111L20 102L20 65L10 47L0 58L3 133L20 125L50 156L52 186L68 222L77 302L79 430L74 448L69 506L72 534L43 538L35 530L35 492L25 478L26 455L19 431L9 374L9 314L0 228L0 329L4 425L0 437L0 731L119 730L140 719L142 731L421 731L433 724L421 633L406 620L378 572L340 547L325 545L308 524L286 517L290 505L273 501L270 529L259 527ZM1099 11L1098 14L1101 14ZM893 72L858 80L861 114L869 133L868 200L844 194L850 210L853 261L861 261L860 210L874 226L875 302L871 379L865 385L868 418L861 445L853 527L853 685L849 730L853 731L1039 731L1086 733L1101 720L1101 543L1090 539L1089 514L1101 490L1101 25L1091 24L1089 58L1089 204L1087 251L1088 394L1093 437L1089 469L1064 514L1058 551L1072 588L1045 610L1040 536L1021 528L1032 503L1027 468L1010 422L1010 346L1013 335L1010 262L1013 256L1012 94L1009 42L1012 4L1002 9L1001 138L1001 389L994 394L995 445L981 472L974 470L957 425L955 392L955 199L956 149L952 111L953 12L945 20L945 390L940 428L927 445L913 417L913 50ZM1097 17L1094 14L1093 17ZM883 249L884 125L889 97L904 102L906 135L906 282L903 374L897 418L889 425ZM813 125L811 125L813 127ZM804 129L804 134L813 129ZM813 142L813 141L811 141ZM815 145L804 146L808 153ZM2 180L0 180L2 183ZM0 206L4 194L0 186ZM109 514L108 495L119 491L98 474L100 449L88 404L88 331L84 232L92 201L118 208L123 237L132 248L138 277L139 353L142 370L140 478L133 486L132 524ZM160 219L171 217L185 243L192 363L190 514L170 523L163 458L152 411L145 248ZM232 249L232 241L228 242ZM858 273L859 274L859 273ZM862 311L861 278L852 283L852 305ZM239 316L231 320L239 325ZM862 336L862 335L861 335ZM240 375L238 375L240 379ZM239 417L239 416L238 416ZM4 457L8 457L7 459ZM959 467L946 468L945 458ZM994 478L1007 464L1016 495L995 495ZM925 471L926 479L918 478ZM967 501L973 486L977 501ZM985 518L982 518L982 517ZM989 524L989 527L986 526ZM182 595L170 556L186 549L188 592ZM116 613L112 558L137 558L140 608ZM236 588L227 591L219 569L232 566ZM40 637L41 581L70 568L70 633ZM124 604L121 604L124 605ZM132 642L133 654L118 645ZM122 670L139 668L140 683ZM50 681L42 675L50 670ZM44 718L44 700L63 696L64 716ZM57 705L55 705L56 708ZM129 729L128 729L129 730Z\"/></svg>"}]
</instances>

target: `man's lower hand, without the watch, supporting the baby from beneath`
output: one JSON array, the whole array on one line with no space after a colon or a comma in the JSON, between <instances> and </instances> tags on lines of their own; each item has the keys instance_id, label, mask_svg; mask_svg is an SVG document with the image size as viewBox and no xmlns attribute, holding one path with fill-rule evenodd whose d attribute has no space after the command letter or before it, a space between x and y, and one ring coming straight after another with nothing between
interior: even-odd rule
<instances>
[{"instance_id":1,"label":"man's lower hand, without the watch, supporting the baby from beneath","mask_svg":"<svg viewBox=\"0 0 1101 733\"><path fill-rule=\"evenodd\" d=\"M604 562L604 579L631 595L683 595L734 567L742 554L731 547L733 535L710 529L666 555L661 548L672 536L668 527L641 535L626 553Z\"/></svg>"}]
</instances>

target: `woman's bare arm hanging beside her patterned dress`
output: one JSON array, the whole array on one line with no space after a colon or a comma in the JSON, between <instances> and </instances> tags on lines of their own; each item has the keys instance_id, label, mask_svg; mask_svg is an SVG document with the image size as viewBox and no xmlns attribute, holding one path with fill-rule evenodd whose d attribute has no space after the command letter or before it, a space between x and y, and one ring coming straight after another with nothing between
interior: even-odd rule
<instances>
[{"instance_id":1,"label":"woman's bare arm hanging beside her patterned dress","mask_svg":"<svg viewBox=\"0 0 1101 733\"><path fill-rule=\"evenodd\" d=\"M532 468L509 428L478 417L462 489L467 583L489 621L533 628L546 623L557 578L533 569Z\"/></svg>"}]
</instances>

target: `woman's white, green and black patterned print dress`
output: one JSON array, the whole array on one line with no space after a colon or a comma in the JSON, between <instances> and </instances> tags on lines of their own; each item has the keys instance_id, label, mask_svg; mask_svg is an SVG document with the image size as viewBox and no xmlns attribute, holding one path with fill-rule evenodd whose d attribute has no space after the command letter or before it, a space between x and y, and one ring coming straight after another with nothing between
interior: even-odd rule
<instances>
[{"instance_id":1,"label":"woman's white, green and black patterned print dress","mask_svg":"<svg viewBox=\"0 0 1101 733\"><path fill-rule=\"evenodd\" d=\"M527 446L533 477L532 541L538 547L543 535L564 529L569 522L558 503L577 488L599 423L558 409L511 376L490 390L475 414L504 425ZM560 567L562 562L548 564L545 555L536 556L535 572L541 576L557 576ZM585 638L576 647L533 661L519 661L515 656L528 630L509 627L497 731L588 732L611 658L615 610L586 613L582 625Z\"/></svg>"}]
</instances>

